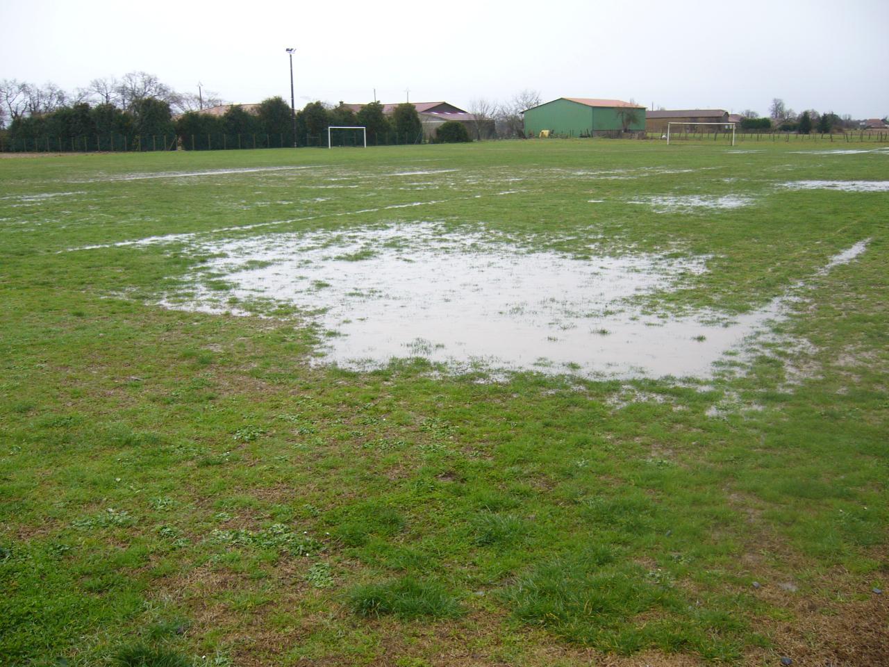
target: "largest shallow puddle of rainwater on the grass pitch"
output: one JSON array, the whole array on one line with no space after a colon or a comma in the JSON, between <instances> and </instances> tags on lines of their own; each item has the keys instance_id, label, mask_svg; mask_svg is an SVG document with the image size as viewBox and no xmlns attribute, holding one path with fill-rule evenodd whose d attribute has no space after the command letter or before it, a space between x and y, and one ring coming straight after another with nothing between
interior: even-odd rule
<instances>
[{"instance_id":1,"label":"largest shallow puddle of rainwater on the grass pitch","mask_svg":"<svg viewBox=\"0 0 889 667\"><path fill-rule=\"evenodd\" d=\"M323 363L356 369L422 357L458 372L706 378L783 305L776 299L718 324L725 317L709 311L645 314L637 297L677 289L706 270L706 258L576 259L435 222L270 234L193 250L214 259L191 277L192 291L164 305L243 314L261 311L262 302L289 304L328 334ZM830 266L863 250L851 248Z\"/></svg>"}]
</instances>

